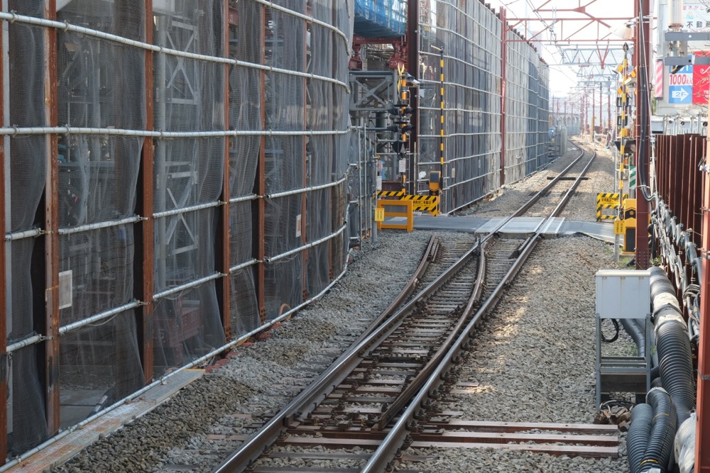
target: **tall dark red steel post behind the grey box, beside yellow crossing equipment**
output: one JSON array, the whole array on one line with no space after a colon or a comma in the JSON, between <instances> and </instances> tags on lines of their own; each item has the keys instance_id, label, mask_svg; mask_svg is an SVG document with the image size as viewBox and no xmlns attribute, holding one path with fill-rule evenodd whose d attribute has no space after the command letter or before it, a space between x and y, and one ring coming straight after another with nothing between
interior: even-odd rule
<instances>
[{"instance_id":1,"label":"tall dark red steel post behind the grey box, beside yellow crossing equipment","mask_svg":"<svg viewBox=\"0 0 710 473\"><path fill-rule=\"evenodd\" d=\"M637 8L635 13L640 16L636 23L636 38L634 63L636 65L636 77L638 82L638 101L636 106L636 242L635 260L636 269L647 269L650 265L648 257L648 201L644 199L645 192L640 185L648 184L649 167L649 123L650 104L648 103L648 65L650 57L650 1L635 0ZM677 214L676 214L677 215Z\"/></svg>"}]
</instances>

